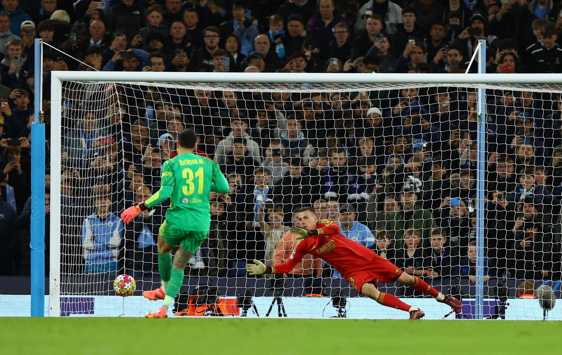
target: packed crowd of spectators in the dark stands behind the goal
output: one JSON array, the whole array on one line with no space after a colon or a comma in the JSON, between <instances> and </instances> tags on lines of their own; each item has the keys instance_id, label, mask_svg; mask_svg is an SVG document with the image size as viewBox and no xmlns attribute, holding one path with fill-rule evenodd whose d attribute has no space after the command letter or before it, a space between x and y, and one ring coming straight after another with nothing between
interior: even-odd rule
<instances>
[{"instance_id":1,"label":"packed crowd of spectators in the dark stands behind the goal","mask_svg":"<svg viewBox=\"0 0 562 355\"><path fill-rule=\"evenodd\" d=\"M34 38L44 43L48 132L53 70L460 73L486 39L487 72L562 72L562 6L552 0L1 4L0 275L29 274ZM244 276L247 260L286 261L295 211L312 205L409 274L474 283L473 89L303 94L65 83L62 104L62 170L53 174L62 176L65 273L157 274L169 206L128 226L119 214L158 190L176 134L193 128L197 153L219 163L230 193L211 194L211 232L189 274ZM560 93L490 88L486 110L484 279L560 278ZM310 255L287 275L317 276L341 277Z\"/></svg>"}]
</instances>

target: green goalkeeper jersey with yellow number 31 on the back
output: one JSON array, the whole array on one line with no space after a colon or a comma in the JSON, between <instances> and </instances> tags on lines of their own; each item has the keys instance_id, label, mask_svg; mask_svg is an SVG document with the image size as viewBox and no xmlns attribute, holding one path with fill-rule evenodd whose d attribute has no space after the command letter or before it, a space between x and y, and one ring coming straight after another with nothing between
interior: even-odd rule
<instances>
[{"instance_id":1,"label":"green goalkeeper jersey with yellow number 31 on the back","mask_svg":"<svg viewBox=\"0 0 562 355\"><path fill-rule=\"evenodd\" d=\"M208 231L211 225L209 193L228 193L228 181L219 165L193 153L179 154L162 165L160 190L145 201L151 208L171 198L166 212L170 227Z\"/></svg>"}]
</instances>

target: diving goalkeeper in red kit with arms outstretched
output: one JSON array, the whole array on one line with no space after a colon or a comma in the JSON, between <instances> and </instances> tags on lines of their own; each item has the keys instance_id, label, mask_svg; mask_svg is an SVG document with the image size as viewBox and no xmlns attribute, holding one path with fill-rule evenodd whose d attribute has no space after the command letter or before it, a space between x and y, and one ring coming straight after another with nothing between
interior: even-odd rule
<instances>
[{"instance_id":1,"label":"diving goalkeeper in red kit with arms outstretched","mask_svg":"<svg viewBox=\"0 0 562 355\"><path fill-rule=\"evenodd\" d=\"M298 220L303 228L292 227L291 232L300 234L296 239L302 240L297 243L289 260L275 266L265 266L261 261L254 260L255 264L246 266L250 275L285 274L293 270L306 254L312 254L336 268L357 292L383 306L409 312L410 319L422 318L425 313L400 301L395 295L380 292L376 287L377 280L385 284L397 281L410 286L416 291L432 295L437 302L448 304L454 310L460 310L463 306L458 299L443 295L418 276L402 272L374 251L347 239L341 234L337 223L330 220L319 221L314 208L301 208Z\"/></svg>"}]
</instances>

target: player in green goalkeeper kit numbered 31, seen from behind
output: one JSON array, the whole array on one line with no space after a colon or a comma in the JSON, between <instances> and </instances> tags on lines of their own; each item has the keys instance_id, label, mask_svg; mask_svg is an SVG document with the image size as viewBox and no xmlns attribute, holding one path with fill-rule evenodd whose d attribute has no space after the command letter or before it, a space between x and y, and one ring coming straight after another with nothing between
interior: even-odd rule
<instances>
[{"instance_id":1,"label":"player in green goalkeeper kit numbered 31, seen from behind","mask_svg":"<svg viewBox=\"0 0 562 355\"><path fill-rule=\"evenodd\" d=\"M158 233L158 270L162 286L143 292L143 296L148 299L164 299L164 304L158 311L148 313L147 318L167 316L167 310L183 284L185 266L209 234L209 193L213 191L226 194L229 190L228 181L219 165L193 153L196 142L197 135L193 130L180 132L178 155L162 165L160 190L146 201L121 213L121 218L128 224L142 211L171 198L166 220ZM175 245L179 245L179 248L172 265L170 251Z\"/></svg>"}]
</instances>

